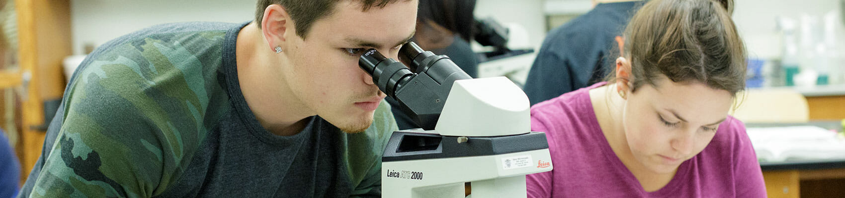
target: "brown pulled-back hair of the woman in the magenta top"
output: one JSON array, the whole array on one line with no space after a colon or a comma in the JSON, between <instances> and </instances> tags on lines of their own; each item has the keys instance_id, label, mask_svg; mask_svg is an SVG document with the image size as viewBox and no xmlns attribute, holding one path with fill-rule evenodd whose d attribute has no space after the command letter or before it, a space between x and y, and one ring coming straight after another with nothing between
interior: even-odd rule
<instances>
[{"instance_id":1,"label":"brown pulled-back hair of the woman in the magenta top","mask_svg":"<svg viewBox=\"0 0 845 198\"><path fill-rule=\"evenodd\" d=\"M630 91L675 83L704 83L736 94L745 87L745 47L731 19L732 0L651 0L624 31L621 56L630 60ZM611 72L608 80L617 78Z\"/></svg>"}]
</instances>

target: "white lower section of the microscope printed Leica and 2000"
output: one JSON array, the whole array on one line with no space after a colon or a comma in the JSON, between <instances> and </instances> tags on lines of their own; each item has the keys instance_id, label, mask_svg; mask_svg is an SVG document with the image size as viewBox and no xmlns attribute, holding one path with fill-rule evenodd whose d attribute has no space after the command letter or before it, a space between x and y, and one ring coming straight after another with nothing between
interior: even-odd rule
<instances>
[{"instance_id":1,"label":"white lower section of the microscope printed Leica and 2000","mask_svg":"<svg viewBox=\"0 0 845 198\"><path fill-rule=\"evenodd\" d=\"M382 163L382 197L463 198L464 183L474 198L525 198L526 174L552 170L548 148L464 158Z\"/></svg>"}]
</instances>

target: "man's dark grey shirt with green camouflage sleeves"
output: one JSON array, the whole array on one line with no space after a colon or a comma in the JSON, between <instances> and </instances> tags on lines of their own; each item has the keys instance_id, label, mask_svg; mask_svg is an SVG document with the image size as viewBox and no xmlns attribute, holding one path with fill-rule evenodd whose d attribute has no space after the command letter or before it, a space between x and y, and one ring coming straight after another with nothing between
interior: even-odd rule
<instances>
[{"instance_id":1,"label":"man's dark grey shirt with green camouflage sleeves","mask_svg":"<svg viewBox=\"0 0 845 198\"><path fill-rule=\"evenodd\" d=\"M379 197L390 106L362 133L264 130L237 81L248 23L162 24L91 53L19 197Z\"/></svg>"}]
</instances>

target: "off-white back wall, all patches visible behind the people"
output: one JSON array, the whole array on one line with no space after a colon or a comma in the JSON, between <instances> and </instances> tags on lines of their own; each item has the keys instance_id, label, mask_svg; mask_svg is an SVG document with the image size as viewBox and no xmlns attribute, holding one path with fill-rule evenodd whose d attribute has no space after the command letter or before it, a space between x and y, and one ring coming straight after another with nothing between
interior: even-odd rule
<instances>
[{"instance_id":1,"label":"off-white back wall, all patches visible behind the people","mask_svg":"<svg viewBox=\"0 0 845 198\"><path fill-rule=\"evenodd\" d=\"M424 1L424 0L423 0ZM500 23L520 24L527 42L539 48L546 35L545 2L589 2L589 0L477 0L476 16L493 17ZM733 19L747 43L750 56L780 56L775 32L777 15L798 18L801 13L826 13L839 6L838 0L735 0ZM86 43L101 45L108 40L153 24L183 21L244 22L253 18L254 0L72 0L72 43L74 54L82 54ZM842 40L845 40L843 38Z\"/></svg>"}]
</instances>

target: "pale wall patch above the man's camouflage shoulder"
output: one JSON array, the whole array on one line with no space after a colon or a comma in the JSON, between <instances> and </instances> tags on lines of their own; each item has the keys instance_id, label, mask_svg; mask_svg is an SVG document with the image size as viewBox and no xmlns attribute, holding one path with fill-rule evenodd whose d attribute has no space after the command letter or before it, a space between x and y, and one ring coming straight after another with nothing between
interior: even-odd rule
<instances>
[{"instance_id":1,"label":"pale wall patch above the man's camouflage shoulder","mask_svg":"<svg viewBox=\"0 0 845 198\"><path fill-rule=\"evenodd\" d=\"M72 0L71 31L74 54L85 44L108 40L154 24L187 21L240 23L252 20L255 1L243 0Z\"/></svg>"}]
</instances>

